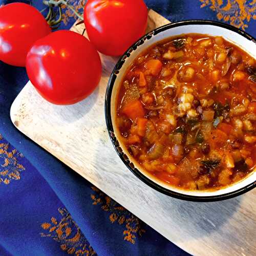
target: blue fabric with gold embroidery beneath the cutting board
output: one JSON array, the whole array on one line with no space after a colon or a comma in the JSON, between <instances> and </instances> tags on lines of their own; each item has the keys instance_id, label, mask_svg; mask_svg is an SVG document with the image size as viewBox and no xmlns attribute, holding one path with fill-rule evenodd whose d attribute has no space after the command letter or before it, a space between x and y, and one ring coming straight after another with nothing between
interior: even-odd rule
<instances>
[{"instance_id":1,"label":"blue fabric with gold embroidery beneath the cutting board","mask_svg":"<svg viewBox=\"0 0 256 256\"><path fill-rule=\"evenodd\" d=\"M226 20L255 36L252 1L230 0L231 8L213 0L145 2L172 21ZM60 28L74 21L64 9ZM15 129L10 106L27 81L24 68L0 61L0 255L186 255Z\"/></svg>"}]
</instances>

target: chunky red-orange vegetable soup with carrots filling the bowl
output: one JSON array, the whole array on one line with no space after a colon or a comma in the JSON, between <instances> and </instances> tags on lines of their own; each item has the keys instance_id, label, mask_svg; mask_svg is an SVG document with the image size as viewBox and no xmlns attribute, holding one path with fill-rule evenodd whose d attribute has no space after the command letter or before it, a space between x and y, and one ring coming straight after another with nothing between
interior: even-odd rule
<instances>
[{"instance_id":1,"label":"chunky red-orange vegetable soup with carrots filling the bowl","mask_svg":"<svg viewBox=\"0 0 256 256\"><path fill-rule=\"evenodd\" d=\"M219 189L256 170L256 61L202 34L158 42L118 92L117 126L147 172L184 189Z\"/></svg>"}]
</instances>

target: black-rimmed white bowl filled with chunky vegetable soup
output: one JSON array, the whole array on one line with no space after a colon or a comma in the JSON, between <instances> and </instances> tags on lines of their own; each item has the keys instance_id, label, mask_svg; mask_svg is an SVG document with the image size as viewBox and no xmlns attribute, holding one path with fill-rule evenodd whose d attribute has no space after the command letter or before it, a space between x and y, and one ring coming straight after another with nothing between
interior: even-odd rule
<instances>
[{"instance_id":1,"label":"black-rimmed white bowl filled with chunky vegetable soup","mask_svg":"<svg viewBox=\"0 0 256 256\"><path fill-rule=\"evenodd\" d=\"M138 40L108 83L105 117L121 160L190 201L241 195L256 180L256 44L229 25L169 24Z\"/></svg>"}]
</instances>

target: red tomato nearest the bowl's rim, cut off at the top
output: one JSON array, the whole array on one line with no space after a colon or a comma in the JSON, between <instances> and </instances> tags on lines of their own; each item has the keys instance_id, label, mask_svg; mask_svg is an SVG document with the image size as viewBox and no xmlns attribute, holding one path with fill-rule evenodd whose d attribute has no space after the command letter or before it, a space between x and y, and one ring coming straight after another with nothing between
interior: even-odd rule
<instances>
[{"instance_id":1,"label":"red tomato nearest the bowl's rim, cut off at the top","mask_svg":"<svg viewBox=\"0 0 256 256\"><path fill-rule=\"evenodd\" d=\"M97 50L118 56L145 33L147 8L143 0L88 0L83 19Z\"/></svg>"}]
</instances>

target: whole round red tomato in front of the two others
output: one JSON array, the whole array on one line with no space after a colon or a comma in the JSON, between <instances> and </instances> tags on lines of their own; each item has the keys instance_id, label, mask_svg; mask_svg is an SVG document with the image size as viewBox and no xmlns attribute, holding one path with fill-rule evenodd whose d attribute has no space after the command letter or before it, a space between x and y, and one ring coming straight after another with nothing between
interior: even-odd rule
<instances>
[{"instance_id":1,"label":"whole round red tomato in front of the two others","mask_svg":"<svg viewBox=\"0 0 256 256\"><path fill-rule=\"evenodd\" d=\"M97 87L100 57L83 36L59 30L35 42L27 56L27 73L46 100L59 105L76 103Z\"/></svg>"}]
</instances>

